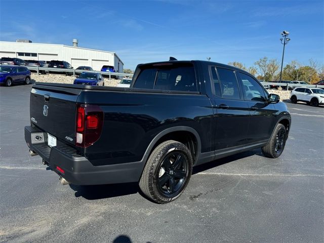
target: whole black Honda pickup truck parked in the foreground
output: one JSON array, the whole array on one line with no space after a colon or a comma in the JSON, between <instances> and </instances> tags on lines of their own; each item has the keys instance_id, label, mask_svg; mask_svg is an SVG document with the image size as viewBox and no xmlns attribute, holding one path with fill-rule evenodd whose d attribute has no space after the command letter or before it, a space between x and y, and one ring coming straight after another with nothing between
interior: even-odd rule
<instances>
[{"instance_id":1,"label":"whole black Honda pickup truck parked in the foreground","mask_svg":"<svg viewBox=\"0 0 324 243\"><path fill-rule=\"evenodd\" d=\"M291 125L286 104L250 73L208 61L137 66L130 88L36 83L25 140L62 184L139 182L168 203L192 167L262 148L276 158Z\"/></svg>"}]
</instances>

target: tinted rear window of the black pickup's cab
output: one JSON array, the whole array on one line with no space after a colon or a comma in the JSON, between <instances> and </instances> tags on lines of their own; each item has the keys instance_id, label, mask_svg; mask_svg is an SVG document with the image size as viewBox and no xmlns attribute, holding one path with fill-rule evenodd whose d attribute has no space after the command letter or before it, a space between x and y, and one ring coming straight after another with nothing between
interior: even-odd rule
<instances>
[{"instance_id":1,"label":"tinted rear window of the black pickup's cab","mask_svg":"<svg viewBox=\"0 0 324 243\"><path fill-rule=\"evenodd\" d=\"M166 63L140 67L134 88L197 91L194 67L191 63Z\"/></svg>"}]
</instances>

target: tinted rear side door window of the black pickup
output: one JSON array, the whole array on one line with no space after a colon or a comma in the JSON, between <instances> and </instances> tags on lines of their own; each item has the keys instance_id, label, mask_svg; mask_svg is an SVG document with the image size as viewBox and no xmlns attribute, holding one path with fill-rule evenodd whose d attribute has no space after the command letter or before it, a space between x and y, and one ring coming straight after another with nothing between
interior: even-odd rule
<instances>
[{"instance_id":1,"label":"tinted rear side door window of the black pickup","mask_svg":"<svg viewBox=\"0 0 324 243\"><path fill-rule=\"evenodd\" d=\"M217 72L220 79L222 98L239 100L239 88L234 71L218 67Z\"/></svg>"}]
</instances>

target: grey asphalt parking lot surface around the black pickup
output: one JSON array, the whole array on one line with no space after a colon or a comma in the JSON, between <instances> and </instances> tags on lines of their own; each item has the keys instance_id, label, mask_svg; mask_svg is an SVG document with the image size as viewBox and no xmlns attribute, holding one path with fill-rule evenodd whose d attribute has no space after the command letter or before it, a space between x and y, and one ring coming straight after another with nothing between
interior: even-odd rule
<instances>
[{"instance_id":1,"label":"grey asphalt parking lot surface around the black pickup","mask_svg":"<svg viewBox=\"0 0 324 243\"><path fill-rule=\"evenodd\" d=\"M323 242L324 106L287 103L284 153L195 168L171 204L136 184L62 186L24 140L31 85L0 87L0 242Z\"/></svg>"}]
</instances>

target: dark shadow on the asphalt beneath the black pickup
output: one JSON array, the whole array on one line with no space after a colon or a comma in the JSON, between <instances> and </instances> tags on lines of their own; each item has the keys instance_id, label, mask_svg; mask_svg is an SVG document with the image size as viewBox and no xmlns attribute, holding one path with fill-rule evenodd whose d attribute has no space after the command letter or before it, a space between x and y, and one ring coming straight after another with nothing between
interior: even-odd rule
<instances>
[{"instance_id":1,"label":"dark shadow on the asphalt beneath the black pickup","mask_svg":"<svg viewBox=\"0 0 324 243\"><path fill-rule=\"evenodd\" d=\"M228 157L213 160L204 165L196 166L193 168L192 175L252 155L263 156L261 149L254 149L251 151L234 154ZM109 185L92 185L92 186L77 186L77 185L70 184L69 186L72 190L75 191L75 197L82 196L88 200L97 200L97 199L110 198L116 196L125 196L125 195L136 194L136 193L139 193L142 196L146 197L141 192L138 186L138 182L109 184Z\"/></svg>"}]
</instances>

